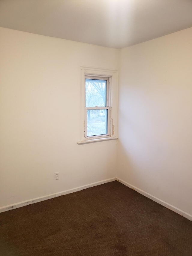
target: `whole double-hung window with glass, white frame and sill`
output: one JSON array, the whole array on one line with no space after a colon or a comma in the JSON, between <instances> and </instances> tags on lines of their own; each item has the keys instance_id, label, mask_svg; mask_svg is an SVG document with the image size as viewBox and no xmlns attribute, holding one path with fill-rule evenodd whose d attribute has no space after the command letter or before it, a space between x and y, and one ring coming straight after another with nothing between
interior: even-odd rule
<instances>
[{"instance_id":1,"label":"whole double-hung window with glass, white frame and sill","mask_svg":"<svg viewBox=\"0 0 192 256\"><path fill-rule=\"evenodd\" d=\"M78 144L117 139L117 71L80 67L80 75L81 141Z\"/></svg>"}]
</instances>

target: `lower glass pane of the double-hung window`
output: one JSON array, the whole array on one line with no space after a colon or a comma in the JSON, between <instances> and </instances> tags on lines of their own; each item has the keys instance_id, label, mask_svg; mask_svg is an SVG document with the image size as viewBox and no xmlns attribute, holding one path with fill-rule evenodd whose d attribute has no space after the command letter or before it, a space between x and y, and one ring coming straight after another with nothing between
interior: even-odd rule
<instances>
[{"instance_id":1,"label":"lower glass pane of the double-hung window","mask_svg":"<svg viewBox=\"0 0 192 256\"><path fill-rule=\"evenodd\" d=\"M87 110L87 136L107 134L107 109Z\"/></svg>"}]
</instances>

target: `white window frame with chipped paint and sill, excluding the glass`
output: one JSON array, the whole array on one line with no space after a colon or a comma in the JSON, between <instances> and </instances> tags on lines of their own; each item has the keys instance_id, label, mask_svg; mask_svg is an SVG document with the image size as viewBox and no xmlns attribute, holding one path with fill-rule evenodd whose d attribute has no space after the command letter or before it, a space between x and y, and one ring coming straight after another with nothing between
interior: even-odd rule
<instances>
[{"instance_id":1,"label":"white window frame with chipped paint and sill, excluding the glass","mask_svg":"<svg viewBox=\"0 0 192 256\"><path fill-rule=\"evenodd\" d=\"M85 107L85 78L107 80L107 107L93 107L88 109L108 109L107 110L107 134L97 136L87 135L87 107ZM117 101L118 101L118 71L104 68L80 67L80 141L78 144L97 142L103 140L114 140L117 137Z\"/></svg>"}]
</instances>

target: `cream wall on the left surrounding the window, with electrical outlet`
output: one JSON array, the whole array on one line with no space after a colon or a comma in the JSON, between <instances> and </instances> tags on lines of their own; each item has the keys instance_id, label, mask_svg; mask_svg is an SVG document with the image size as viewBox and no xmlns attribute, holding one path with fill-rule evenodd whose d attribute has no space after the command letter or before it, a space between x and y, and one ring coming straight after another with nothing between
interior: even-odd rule
<instances>
[{"instance_id":1,"label":"cream wall on the left surrounding the window, with electrical outlet","mask_svg":"<svg viewBox=\"0 0 192 256\"><path fill-rule=\"evenodd\" d=\"M0 207L115 177L117 140L77 145L79 66L117 69L119 50L4 28L0 37Z\"/></svg>"}]
</instances>

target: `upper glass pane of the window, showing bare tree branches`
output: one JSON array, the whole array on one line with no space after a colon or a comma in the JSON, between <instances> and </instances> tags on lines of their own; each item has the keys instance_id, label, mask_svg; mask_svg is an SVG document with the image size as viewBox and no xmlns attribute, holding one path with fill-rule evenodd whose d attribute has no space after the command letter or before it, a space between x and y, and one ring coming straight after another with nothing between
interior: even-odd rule
<instances>
[{"instance_id":1,"label":"upper glass pane of the window, showing bare tree branches","mask_svg":"<svg viewBox=\"0 0 192 256\"><path fill-rule=\"evenodd\" d=\"M106 107L106 80L85 79L86 107Z\"/></svg>"}]
</instances>

